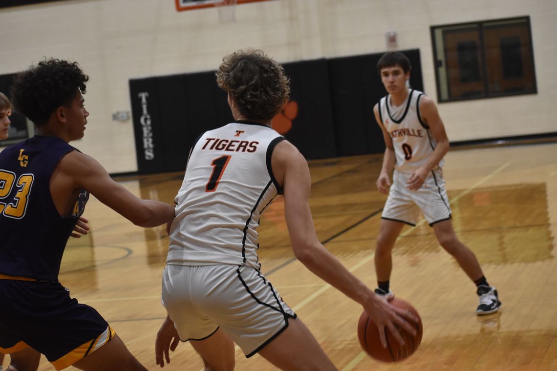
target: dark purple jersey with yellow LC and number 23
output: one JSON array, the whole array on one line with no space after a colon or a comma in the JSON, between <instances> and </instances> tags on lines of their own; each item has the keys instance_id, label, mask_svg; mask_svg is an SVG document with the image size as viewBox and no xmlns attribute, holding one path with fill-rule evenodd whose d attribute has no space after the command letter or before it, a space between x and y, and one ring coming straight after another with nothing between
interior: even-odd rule
<instances>
[{"instance_id":1,"label":"dark purple jersey with yellow LC and number 23","mask_svg":"<svg viewBox=\"0 0 557 371\"><path fill-rule=\"evenodd\" d=\"M50 193L58 161L76 149L57 137L34 136L0 153L0 274L57 281L62 254L89 193L60 216Z\"/></svg>"}]
</instances>

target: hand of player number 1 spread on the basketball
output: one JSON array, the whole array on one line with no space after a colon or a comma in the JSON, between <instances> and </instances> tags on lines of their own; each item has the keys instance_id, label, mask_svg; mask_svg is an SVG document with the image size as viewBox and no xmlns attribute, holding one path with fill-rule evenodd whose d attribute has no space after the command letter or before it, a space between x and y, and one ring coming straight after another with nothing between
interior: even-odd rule
<instances>
[{"instance_id":1,"label":"hand of player number 1 spread on the basketball","mask_svg":"<svg viewBox=\"0 0 557 371\"><path fill-rule=\"evenodd\" d=\"M416 335L416 328L414 328L408 321L417 323L417 318L407 310L402 308L397 308L389 303L389 300L394 298L390 296L385 298L380 295L375 295L376 299L374 305L371 308L364 308L368 312L369 317L377 324L379 329L379 338L381 339L381 344L383 348L387 348L387 338L385 338L385 328L393 334L394 338L400 345L404 344L404 339L402 335L398 332L397 326L402 327L405 331Z\"/></svg>"}]
</instances>

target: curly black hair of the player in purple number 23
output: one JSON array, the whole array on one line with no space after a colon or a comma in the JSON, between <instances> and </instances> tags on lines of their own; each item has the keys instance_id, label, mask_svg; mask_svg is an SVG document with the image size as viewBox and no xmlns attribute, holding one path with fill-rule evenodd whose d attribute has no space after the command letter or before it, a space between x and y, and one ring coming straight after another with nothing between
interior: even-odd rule
<instances>
[{"instance_id":1,"label":"curly black hair of the player in purple number 23","mask_svg":"<svg viewBox=\"0 0 557 371\"><path fill-rule=\"evenodd\" d=\"M85 93L87 81L77 62L45 58L14 78L12 103L36 126L46 125L58 107L71 105L78 89Z\"/></svg>"}]
</instances>

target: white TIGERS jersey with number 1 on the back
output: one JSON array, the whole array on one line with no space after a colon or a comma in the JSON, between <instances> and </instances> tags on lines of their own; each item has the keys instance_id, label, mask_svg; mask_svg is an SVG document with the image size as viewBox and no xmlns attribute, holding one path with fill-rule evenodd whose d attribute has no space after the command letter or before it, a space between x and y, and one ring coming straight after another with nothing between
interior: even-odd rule
<instances>
[{"instance_id":1,"label":"white TIGERS jersey with number 1 on the back","mask_svg":"<svg viewBox=\"0 0 557 371\"><path fill-rule=\"evenodd\" d=\"M257 227L263 210L282 193L271 154L283 139L272 128L247 121L198 138L175 198L167 264L260 268Z\"/></svg>"}]
</instances>

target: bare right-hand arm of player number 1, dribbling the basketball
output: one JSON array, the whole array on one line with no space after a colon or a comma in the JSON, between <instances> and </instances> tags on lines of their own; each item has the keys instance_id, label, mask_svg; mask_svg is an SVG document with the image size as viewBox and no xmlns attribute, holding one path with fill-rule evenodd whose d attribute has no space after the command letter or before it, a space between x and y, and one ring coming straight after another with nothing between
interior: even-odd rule
<instances>
[{"instance_id":1,"label":"bare right-hand arm of player number 1, dribbling the basketball","mask_svg":"<svg viewBox=\"0 0 557 371\"><path fill-rule=\"evenodd\" d=\"M384 347L387 346L385 327L403 344L395 324L414 334L415 329L404 320L412 320L412 315L375 295L317 239L309 207L311 179L304 157L289 142L282 141L273 151L272 169L278 182L282 181L284 186L286 224L296 258L312 273L363 305L370 318L377 323Z\"/></svg>"}]
</instances>

